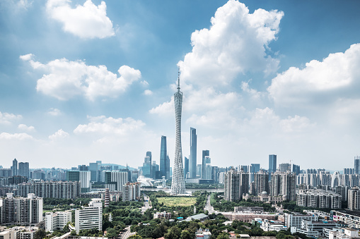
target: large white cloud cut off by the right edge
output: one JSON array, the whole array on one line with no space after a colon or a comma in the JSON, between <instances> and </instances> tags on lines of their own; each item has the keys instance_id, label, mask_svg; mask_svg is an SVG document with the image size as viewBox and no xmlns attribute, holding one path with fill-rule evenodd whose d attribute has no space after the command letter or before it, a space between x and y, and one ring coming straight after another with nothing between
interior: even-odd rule
<instances>
[{"instance_id":1,"label":"large white cloud cut off by the right edge","mask_svg":"<svg viewBox=\"0 0 360 239\"><path fill-rule=\"evenodd\" d=\"M339 98L359 98L360 44L344 53L330 54L323 61L310 61L305 68L291 67L277 75L267 88L279 106L334 103Z\"/></svg>"}]
</instances>

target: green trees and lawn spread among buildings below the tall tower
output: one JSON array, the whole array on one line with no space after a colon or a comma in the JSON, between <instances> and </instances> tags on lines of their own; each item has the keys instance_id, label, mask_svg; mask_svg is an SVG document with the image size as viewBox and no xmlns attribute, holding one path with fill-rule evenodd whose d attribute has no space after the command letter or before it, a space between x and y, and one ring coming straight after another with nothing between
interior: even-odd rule
<instances>
[{"instance_id":1,"label":"green trees and lawn spread among buildings below the tall tower","mask_svg":"<svg viewBox=\"0 0 360 239\"><path fill-rule=\"evenodd\" d=\"M98 228L90 230L81 230L79 234L76 231L71 231L71 235L79 236L95 236L100 237L105 235L108 238L118 238L120 233L124 231L126 226L131 226L132 232L137 232L129 238L194 238L195 232L199 228L209 228L211 238L229 238L229 233L233 231L236 234L249 234L250 236L275 236L277 239L293 239L303 238L307 239L305 235L293 234L289 231L270 231L265 232L257 225L251 223L244 223L240 221L233 221L226 223L226 219L222 214L208 214L204 212L204 205L207 202L207 197L211 195L210 202L215 210L219 212L232 212L233 207L238 206L257 206L264 207L266 212L274 212L274 208L268 203L262 202L227 202L223 200L221 193L217 192L194 192L192 197L176 197L166 194L166 192L146 191L149 196L151 209L147 209L144 214L141 214L141 207L144 202L110 202L109 207L103 208L103 231L98 231ZM44 207L50 210L58 209L76 209L82 205L88 204L90 200L79 198L76 200L62 200L62 199L45 199ZM283 202L284 209L296 211L300 210L294 202ZM178 220L178 217L187 219L188 216L194 214L194 207L197 212L208 214L209 219L205 221L185 221ZM156 212L171 212L173 220L153 219L153 214ZM302 209L301 209L302 212ZM74 210L73 210L74 214ZM110 214L112 221L109 221ZM74 221L73 221L74 224ZM52 238L54 236L63 235L69 232L68 226L65 226L62 231L55 231L52 234L39 231L34 237L35 239Z\"/></svg>"}]
</instances>

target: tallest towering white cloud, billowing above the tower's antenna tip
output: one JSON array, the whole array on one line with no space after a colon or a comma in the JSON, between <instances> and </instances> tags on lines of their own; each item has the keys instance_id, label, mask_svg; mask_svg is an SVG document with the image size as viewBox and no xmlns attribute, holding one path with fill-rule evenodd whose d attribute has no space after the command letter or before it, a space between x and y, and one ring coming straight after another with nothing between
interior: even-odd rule
<instances>
[{"instance_id":1,"label":"tallest towering white cloud, billowing above the tower's antenna tip","mask_svg":"<svg viewBox=\"0 0 360 239\"><path fill-rule=\"evenodd\" d=\"M211 27L192 33L192 51L179 62L181 78L191 84L226 85L238 73L277 71L278 59L267 54L284 13L248 7L230 0L217 9Z\"/></svg>"}]
</instances>

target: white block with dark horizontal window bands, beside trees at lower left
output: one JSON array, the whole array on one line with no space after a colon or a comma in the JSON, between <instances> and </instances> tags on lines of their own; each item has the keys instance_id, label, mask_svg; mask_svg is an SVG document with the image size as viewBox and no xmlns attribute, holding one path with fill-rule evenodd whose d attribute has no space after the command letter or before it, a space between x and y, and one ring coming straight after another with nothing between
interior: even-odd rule
<instances>
[{"instance_id":1,"label":"white block with dark horizontal window bands, beside trees at lower left","mask_svg":"<svg viewBox=\"0 0 360 239\"><path fill-rule=\"evenodd\" d=\"M94 198L89 207L76 209L75 211L75 230L98 228L103 230L103 202L99 198Z\"/></svg>"}]
</instances>

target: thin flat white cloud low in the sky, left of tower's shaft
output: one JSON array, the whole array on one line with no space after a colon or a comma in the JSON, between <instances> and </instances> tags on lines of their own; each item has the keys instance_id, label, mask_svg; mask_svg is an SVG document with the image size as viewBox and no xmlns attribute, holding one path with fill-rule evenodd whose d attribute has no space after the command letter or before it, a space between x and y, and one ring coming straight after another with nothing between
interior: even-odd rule
<instances>
[{"instance_id":1,"label":"thin flat white cloud low in the sky, left of tower's shaft","mask_svg":"<svg viewBox=\"0 0 360 239\"><path fill-rule=\"evenodd\" d=\"M76 134L96 133L98 135L127 135L141 129L145 123L134 118L106 118L105 116L88 117L90 123L78 125L74 130Z\"/></svg>"}]
</instances>

